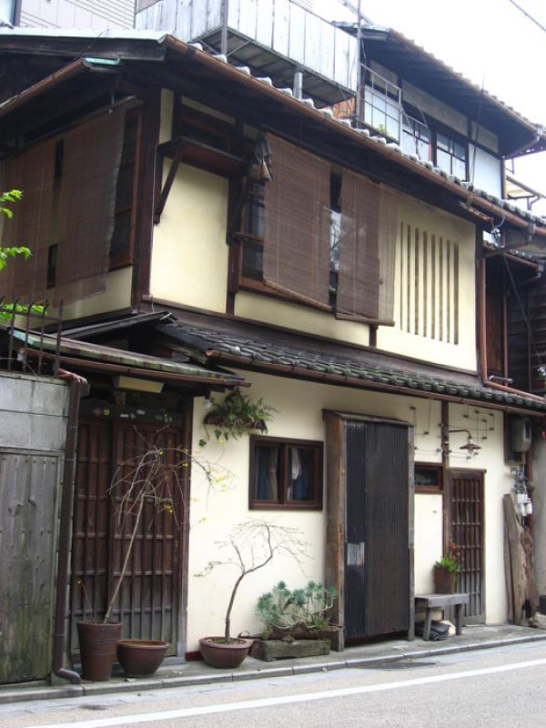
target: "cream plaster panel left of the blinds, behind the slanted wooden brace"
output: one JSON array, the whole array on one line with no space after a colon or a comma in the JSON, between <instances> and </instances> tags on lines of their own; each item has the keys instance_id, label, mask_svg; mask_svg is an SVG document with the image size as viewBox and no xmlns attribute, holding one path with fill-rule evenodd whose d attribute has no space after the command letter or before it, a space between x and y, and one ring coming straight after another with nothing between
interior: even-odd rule
<instances>
[{"instance_id":1,"label":"cream plaster panel left of the blinds, behind the slanted wooden brace","mask_svg":"<svg viewBox=\"0 0 546 728\"><path fill-rule=\"evenodd\" d=\"M164 180L170 164L166 162ZM154 298L226 310L227 179L180 165L154 230Z\"/></svg>"}]
</instances>

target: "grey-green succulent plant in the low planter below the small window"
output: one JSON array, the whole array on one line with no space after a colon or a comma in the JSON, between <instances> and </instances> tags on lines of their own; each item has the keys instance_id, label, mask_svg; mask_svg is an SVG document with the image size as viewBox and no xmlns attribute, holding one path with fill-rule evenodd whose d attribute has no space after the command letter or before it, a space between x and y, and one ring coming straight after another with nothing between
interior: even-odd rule
<instances>
[{"instance_id":1,"label":"grey-green succulent plant in the low planter below the small window","mask_svg":"<svg viewBox=\"0 0 546 728\"><path fill-rule=\"evenodd\" d=\"M319 636L332 628L327 612L338 592L323 584L309 581L307 586L290 591L279 581L271 591L258 599L256 613L264 623L264 639L272 637Z\"/></svg>"}]
</instances>

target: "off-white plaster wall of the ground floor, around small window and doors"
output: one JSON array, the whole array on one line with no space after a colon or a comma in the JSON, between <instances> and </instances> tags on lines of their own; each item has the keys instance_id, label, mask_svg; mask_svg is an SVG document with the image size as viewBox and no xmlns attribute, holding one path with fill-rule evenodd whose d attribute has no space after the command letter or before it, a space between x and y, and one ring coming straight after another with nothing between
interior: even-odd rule
<instances>
[{"instance_id":1,"label":"off-white plaster wall of the ground floor, around small window and doors","mask_svg":"<svg viewBox=\"0 0 546 728\"><path fill-rule=\"evenodd\" d=\"M242 372L239 372L242 373ZM269 426L269 435L324 440L323 409L345 410L360 414L372 414L415 424L416 460L440 462L440 404L426 399L399 397L379 392L346 389L310 382L281 379L267 375L248 374L252 382L248 393L253 399L263 397L278 410ZM415 408L415 409L412 409ZM194 416L194 448L203 437L201 422L206 414L203 399L196 400ZM473 410L471 410L473 412ZM486 410L478 410L480 418L488 418ZM473 423L464 418L466 408L454 405L450 408L453 423L472 428ZM474 415L472 415L474 416ZM479 419L480 419L479 418ZM452 425L456 427L455 424ZM502 461L502 416L494 416L494 431L488 431L488 440L480 440L482 450L477 458L464 460L458 448L466 441L465 436L453 435L452 467L472 469L486 468L486 539L487 539L487 621L502 622L506 617L506 598L503 575L502 509L501 496L510 490L508 469ZM429 434L425 434L429 432ZM303 570L293 561L274 561L263 571L248 577L238 594L233 613L232 633L248 630L258 632L259 622L254 615L254 605L259 594L268 591L277 581L284 580L289 586L303 585L308 579L324 579L324 545L326 529L326 503L322 511L249 511L248 510L248 437L218 445L214 437L203 450L207 459L227 468L234 474L232 486L222 491L208 492L203 479L194 469L192 480L191 529L189 540L189 584L187 612L187 649L197 649L199 637L222 633L223 615L228 593L237 570L219 567L206 577L198 577L208 561L221 559L225 551L217 550L217 541L227 537L233 523L249 517L272 520L297 526L303 538L312 544L313 558L302 564ZM326 493L325 489L325 501ZM430 591L432 566L442 551L442 496L417 494L415 498L415 586L416 591ZM303 573L303 571L305 573Z\"/></svg>"}]
</instances>

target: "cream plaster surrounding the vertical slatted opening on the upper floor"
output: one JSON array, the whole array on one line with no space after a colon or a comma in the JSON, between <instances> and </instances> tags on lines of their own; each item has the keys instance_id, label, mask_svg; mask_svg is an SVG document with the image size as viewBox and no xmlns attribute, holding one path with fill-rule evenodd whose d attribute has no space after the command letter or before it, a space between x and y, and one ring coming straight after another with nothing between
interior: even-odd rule
<instances>
[{"instance_id":1,"label":"cream plaster surrounding the vertical slatted opening on the upper floor","mask_svg":"<svg viewBox=\"0 0 546 728\"><path fill-rule=\"evenodd\" d=\"M476 306L475 306L475 228L460 217L442 212L410 197L400 197L399 222L403 221L429 234L435 233L459 244L459 343L409 333L400 323L400 255L397 241L397 262L394 283L394 327L379 327L378 348L417 359L444 364L457 369L476 369ZM400 227L400 226L398 226ZM399 233L400 235L400 233Z\"/></svg>"}]
</instances>

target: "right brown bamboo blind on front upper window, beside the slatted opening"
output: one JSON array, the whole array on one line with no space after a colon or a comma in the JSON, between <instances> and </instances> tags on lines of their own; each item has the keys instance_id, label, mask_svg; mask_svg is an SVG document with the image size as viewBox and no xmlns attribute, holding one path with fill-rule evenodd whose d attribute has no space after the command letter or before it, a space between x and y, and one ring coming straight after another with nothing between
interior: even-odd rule
<instances>
[{"instance_id":1,"label":"right brown bamboo blind on front upper window, beside the slatted opening","mask_svg":"<svg viewBox=\"0 0 546 728\"><path fill-rule=\"evenodd\" d=\"M343 170L338 319L392 322L396 201L395 193Z\"/></svg>"}]
</instances>

